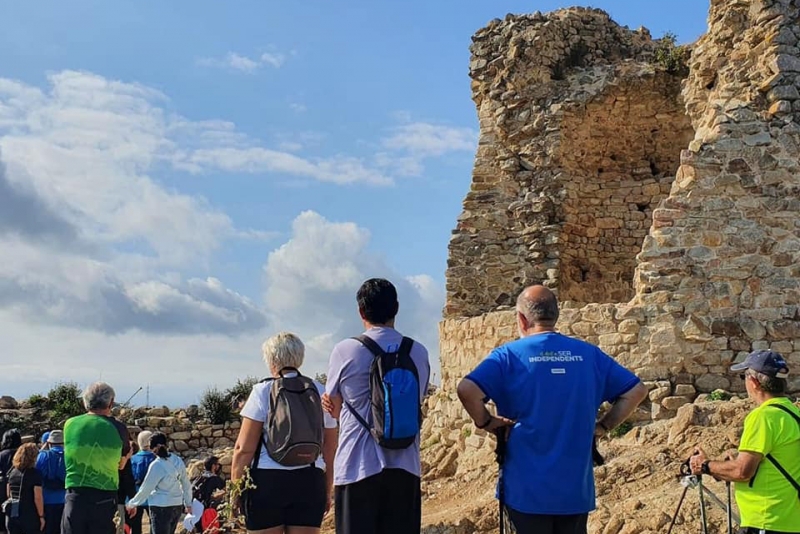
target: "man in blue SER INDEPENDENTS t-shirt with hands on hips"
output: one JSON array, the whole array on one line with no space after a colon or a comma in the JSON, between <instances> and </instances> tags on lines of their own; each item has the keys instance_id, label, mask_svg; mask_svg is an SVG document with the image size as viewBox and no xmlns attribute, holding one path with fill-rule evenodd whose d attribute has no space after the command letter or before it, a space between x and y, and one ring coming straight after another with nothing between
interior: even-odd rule
<instances>
[{"instance_id":1,"label":"man in blue SER INDEPENDENTS t-shirt with hands on hips","mask_svg":"<svg viewBox=\"0 0 800 534\"><path fill-rule=\"evenodd\" d=\"M519 534L586 532L595 508L592 440L647 395L633 373L598 347L556 333L557 320L553 292L526 288L517 299L520 339L496 348L458 385L478 428L508 428L501 483ZM605 401L613 407L596 422Z\"/></svg>"}]
</instances>

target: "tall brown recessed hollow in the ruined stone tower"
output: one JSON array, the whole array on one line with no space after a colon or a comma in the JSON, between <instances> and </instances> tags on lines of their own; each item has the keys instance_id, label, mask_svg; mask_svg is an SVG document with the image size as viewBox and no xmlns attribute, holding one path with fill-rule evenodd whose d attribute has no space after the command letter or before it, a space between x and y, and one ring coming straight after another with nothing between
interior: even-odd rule
<instances>
[{"instance_id":1,"label":"tall brown recessed hollow in the ruined stone tower","mask_svg":"<svg viewBox=\"0 0 800 534\"><path fill-rule=\"evenodd\" d=\"M653 210L669 195L694 130L666 72L612 86L565 111L559 299L627 302Z\"/></svg>"}]
</instances>

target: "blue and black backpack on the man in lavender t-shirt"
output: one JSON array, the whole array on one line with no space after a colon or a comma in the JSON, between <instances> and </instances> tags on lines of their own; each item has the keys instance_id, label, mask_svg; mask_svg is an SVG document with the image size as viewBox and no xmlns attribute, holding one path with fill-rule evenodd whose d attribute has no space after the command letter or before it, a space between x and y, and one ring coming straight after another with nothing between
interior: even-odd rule
<instances>
[{"instance_id":1,"label":"blue and black backpack on the man in lavender t-shirt","mask_svg":"<svg viewBox=\"0 0 800 534\"><path fill-rule=\"evenodd\" d=\"M381 447L408 448L422 426L419 372L411 359L414 340L404 337L396 352L386 352L366 335L353 339L374 356L369 368L372 424L349 402L345 401L345 406Z\"/></svg>"}]
</instances>

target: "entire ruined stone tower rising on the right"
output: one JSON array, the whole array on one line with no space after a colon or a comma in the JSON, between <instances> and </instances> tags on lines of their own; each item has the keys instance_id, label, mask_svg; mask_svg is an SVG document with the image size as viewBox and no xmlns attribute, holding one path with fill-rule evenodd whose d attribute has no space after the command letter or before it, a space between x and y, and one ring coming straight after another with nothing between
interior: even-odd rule
<instances>
[{"instance_id":1,"label":"entire ruined stone tower rising on the right","mask_svg":"<svg viewBox=\"0 0 800 534\"><path fill-rule=\"evenodd\" d=\"M728 367L754 349L800 370L798 21L800 0L712 0L683 68L596 9L475 34L480 139L426 435L481 447L455 384L516 336L527 284L557 292L562 332L646 381L637 420L743 391Z\"/></svg>"}]
</instances>

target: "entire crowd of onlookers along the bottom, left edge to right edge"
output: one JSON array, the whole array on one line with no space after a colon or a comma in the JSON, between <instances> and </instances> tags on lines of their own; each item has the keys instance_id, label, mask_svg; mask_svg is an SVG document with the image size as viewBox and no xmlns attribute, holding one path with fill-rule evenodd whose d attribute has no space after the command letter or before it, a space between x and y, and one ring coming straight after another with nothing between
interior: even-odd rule
<instances>
[{"instance_id":1,"label":"entire crowd of onlookers along the bottom, left edge to right edge","mask_svg":"<svg viewBox=\"0 0 800 534\"><path fill-rule=\"evenodd\" d=\"M231 466L232 481L245 488L234 509L248 532L318 533L331 508L337 534L420 532L428 352L396 329L399 303L389 281L367 280L356 301L364 332L333 348L325 385L300 372L305 348L294 334L279 333L262 346L271 376L253 387L241 409ZM516 306L519 339L493 350L457 388L475 426L505 443L498 494L519 534L586 533L595 508L593 442L648 394L598 347L558 333L558 317L552 291L525 288ZM710 461L698 448L691 469L736 483L743 534L800 533L800 410L786 395L788 365L775 352L757 351L732 370L742 372L757 404L738 455ZM191 511L186 467L159 433L141 433L142 450L131 456L127 428L111 417L113 401L107 384L89 386L88 413L68 420L63 434L50 434L50 450L61 450L65 466L60 532L110 534L119 502L132 532L140 532L140 510L148 510L151 532L173 534ZM597 420L606 402L610 409ZM20 499L9 530L39 533L54 521L48 502L60 506L59 499L40 488L45 468L28 474L43 453L35 445L16 447L8 491L30 497L24 514ZM0 453L0 474L8 456ZM208 477L215 460L206 463ZM120 495L126 466L135 487Z\"/></svg>"}]
</instances>

